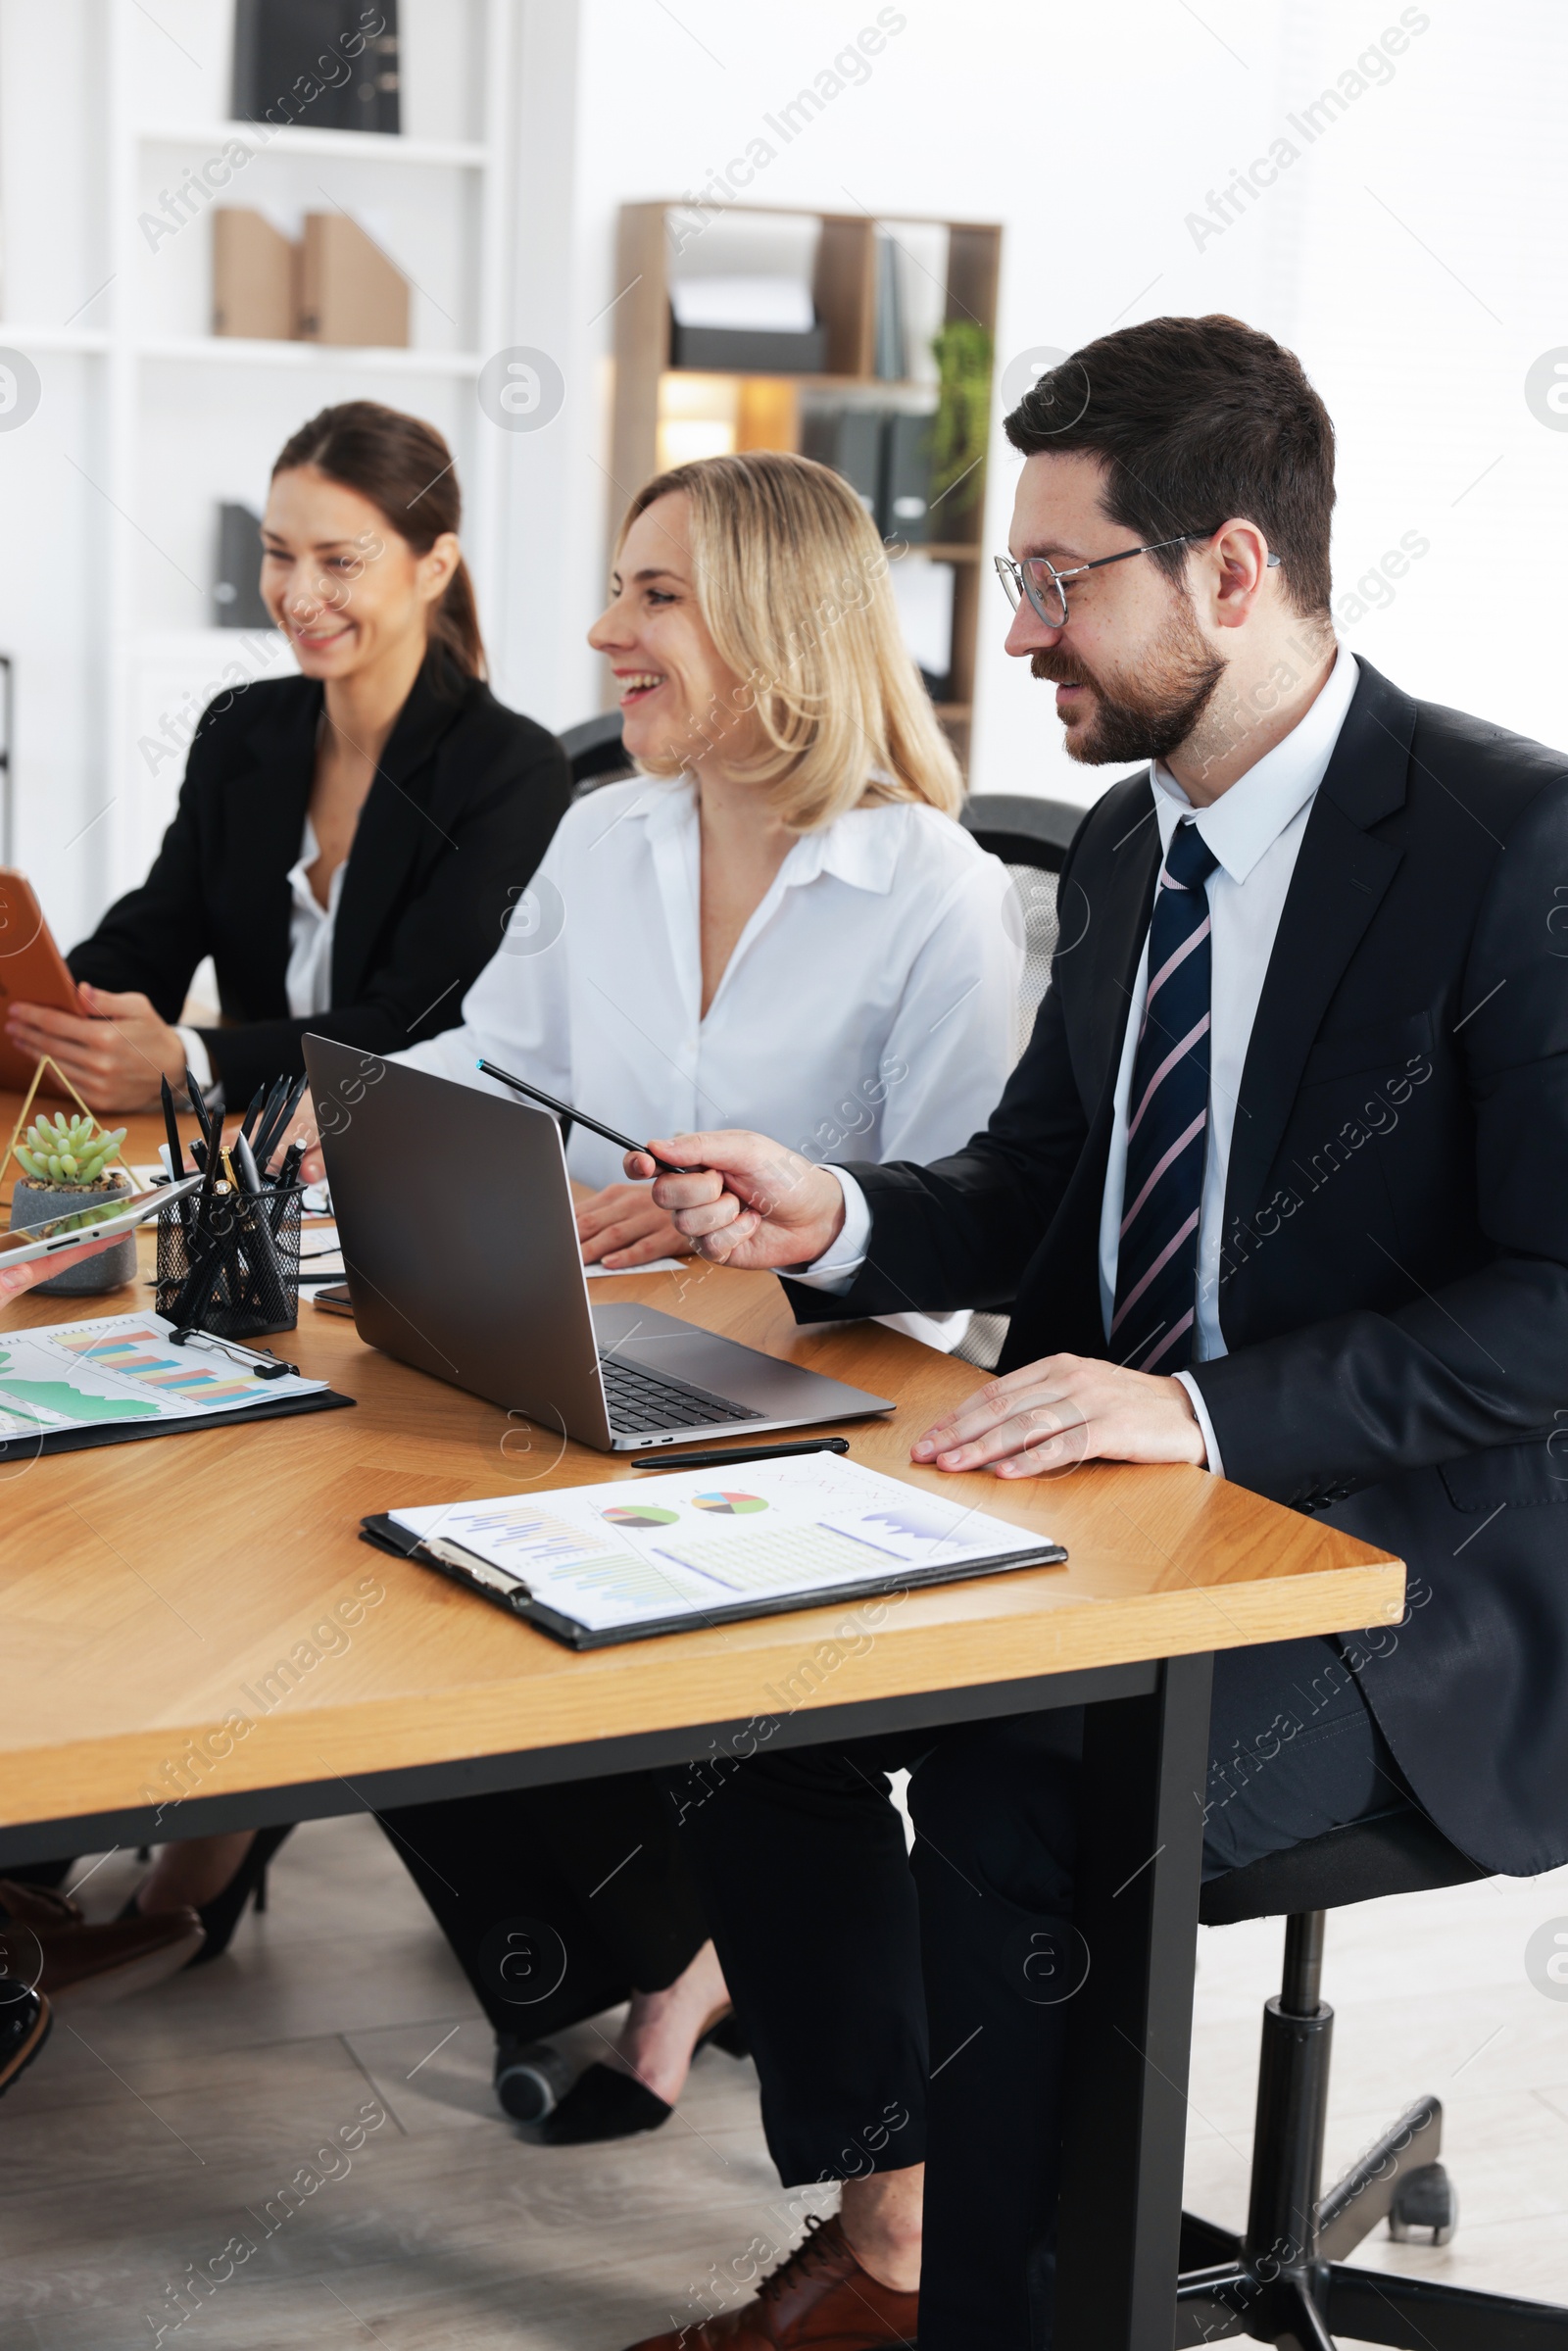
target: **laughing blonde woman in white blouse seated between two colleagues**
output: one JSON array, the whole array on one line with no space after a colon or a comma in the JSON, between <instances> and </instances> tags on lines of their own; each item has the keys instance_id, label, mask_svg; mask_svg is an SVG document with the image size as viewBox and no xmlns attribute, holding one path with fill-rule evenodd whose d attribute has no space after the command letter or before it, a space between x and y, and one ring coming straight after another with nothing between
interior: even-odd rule
<instances>
[{"instance_id":1,"label":"laughing blonde woman in white blouse seated between two colleagues","mask_svg":"<svg viewBox=\"0 0 1568 2351\"><path fill-rule=\"evenodd\" d=\"M1001 865L954 820L959 771L849 484L771 451L658 475L590 644L642 773L562 818L461 1027L395 1058L465 1086L496 1060L630 1133L741 1124L820 1159L957 1150L1006 1079L1018 926ZM611 1145L576 1128L567 1161L597 1187L578 1215L590 1262L684 1248ZM961 1326L914 1321L940 1345ZM538 2118L548 2097L552 2059L517 2036L630 1996L609 2064L543 2130L668 2121L729 1994L658 1784L416 1806L388 1827L496 2027L503 2106ZM522 2010L487 1958L517 1916L592 1954Z\"/></svg>"}]
</instances>

